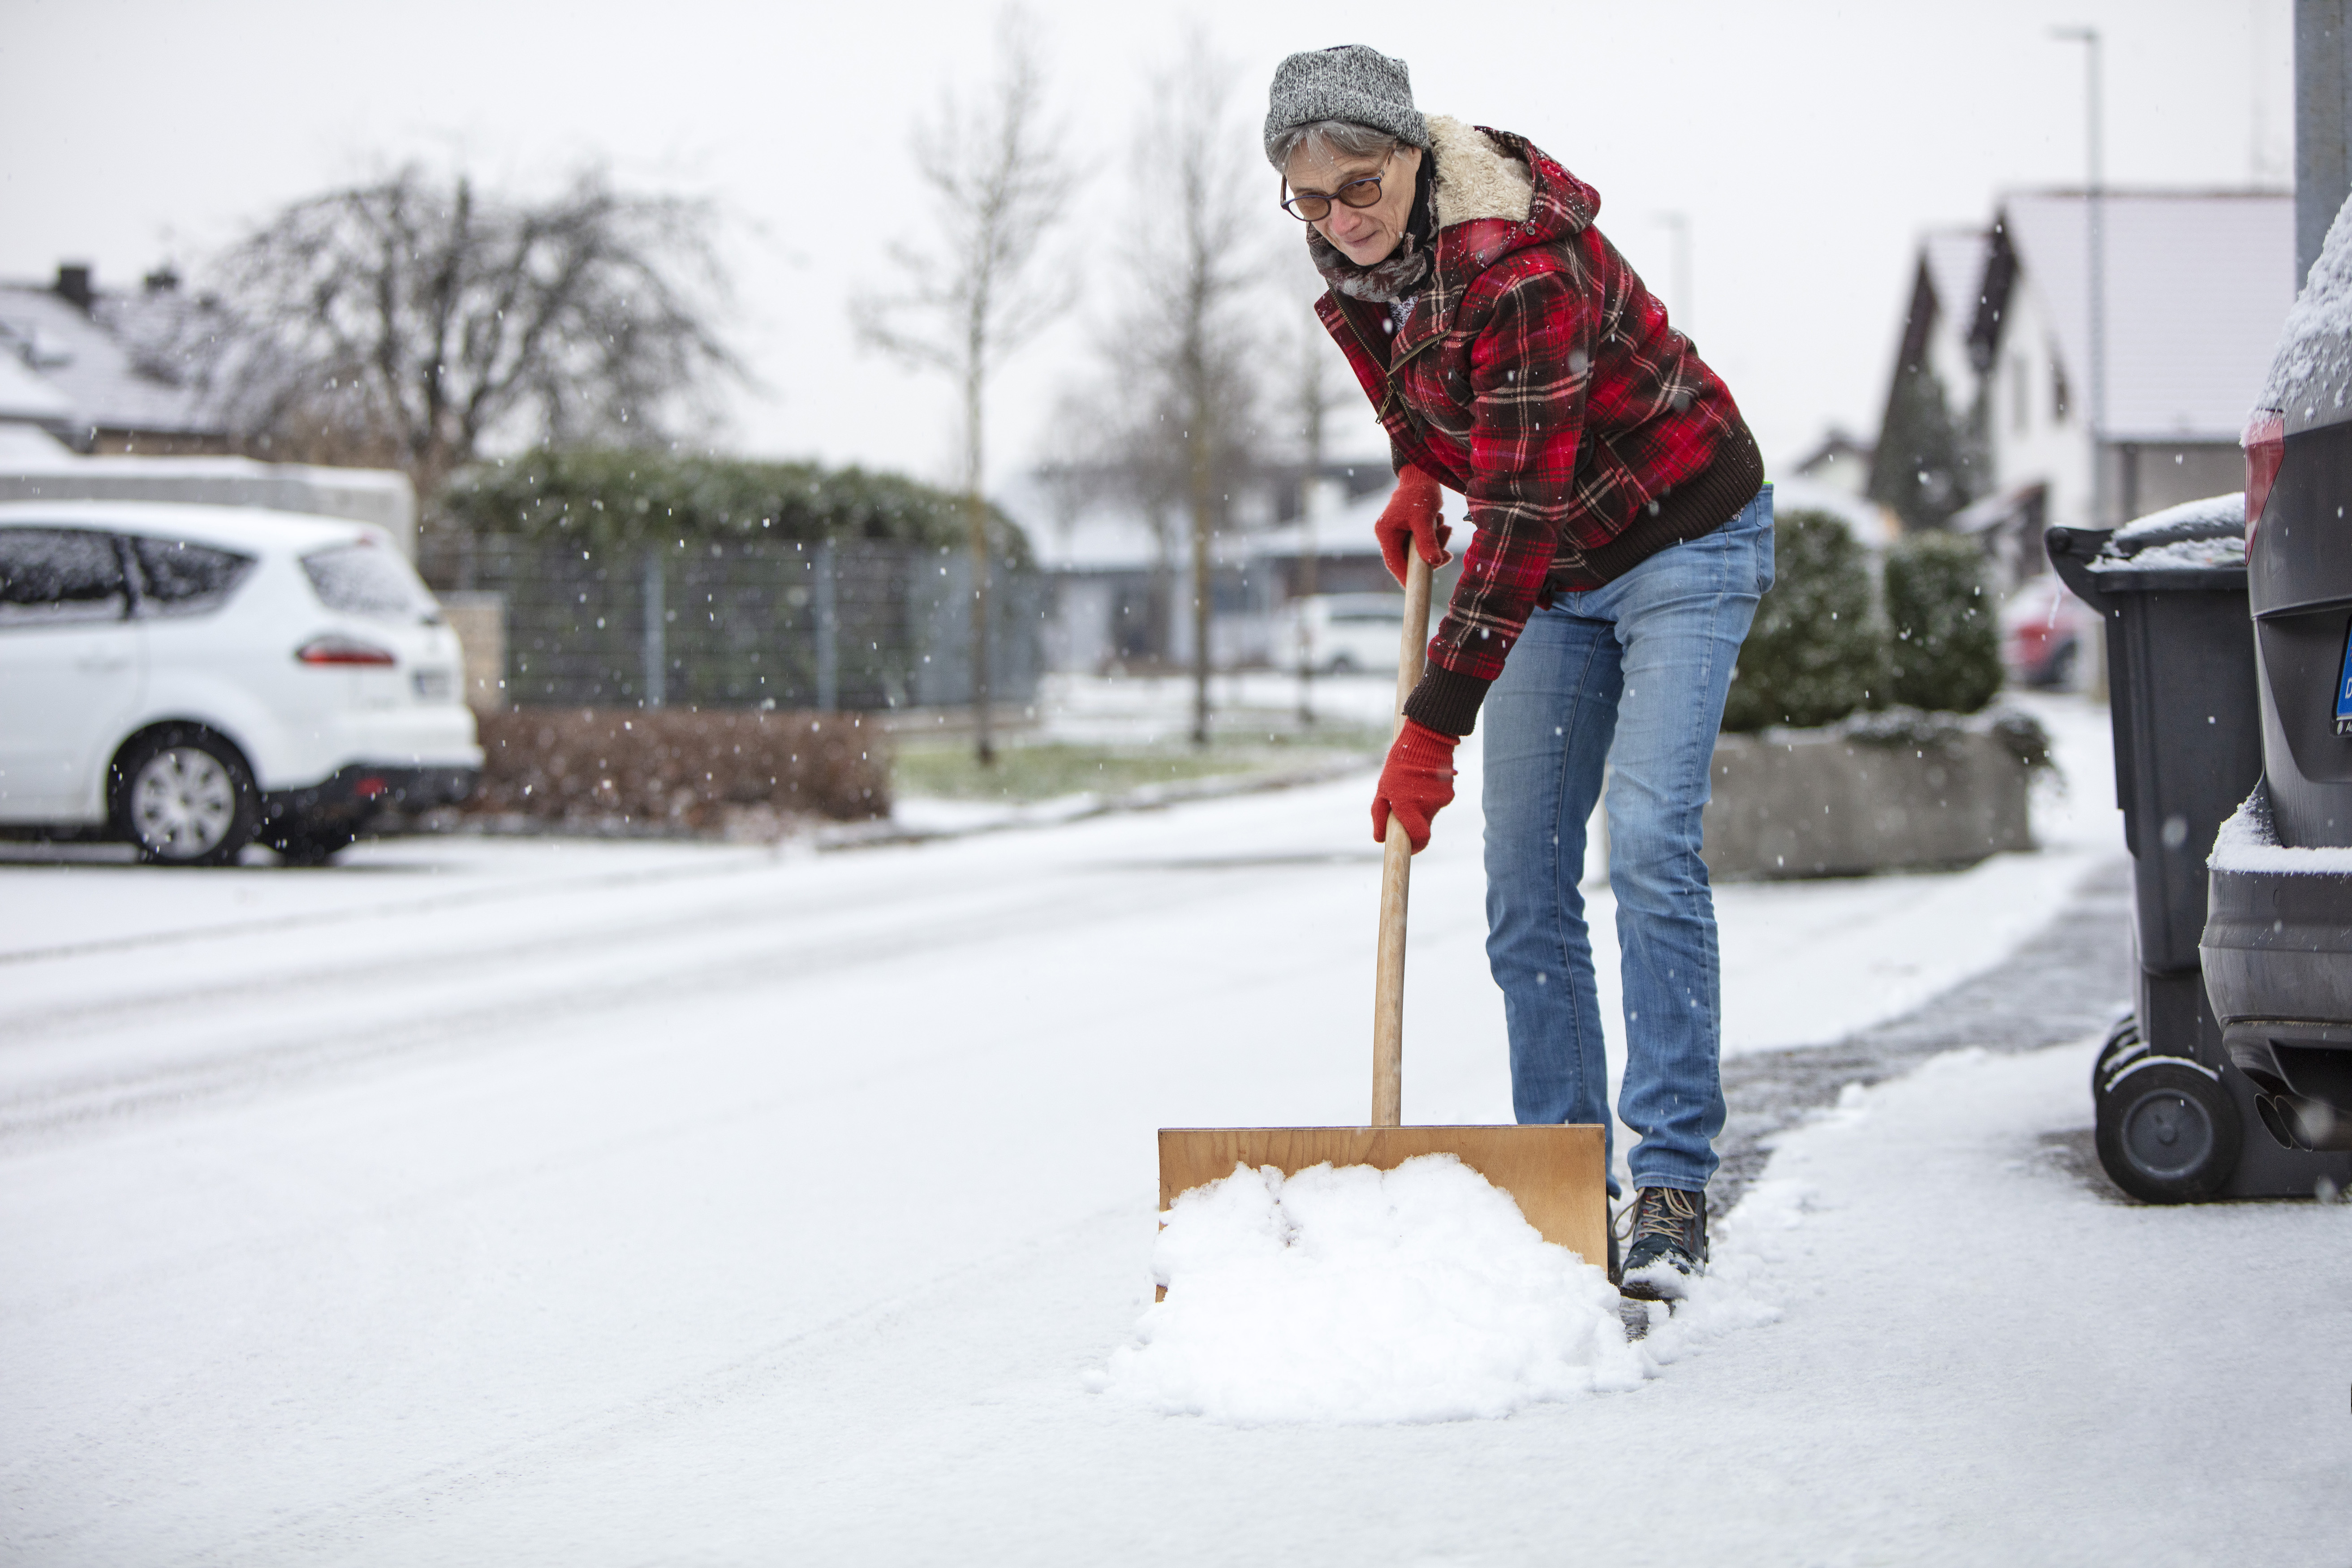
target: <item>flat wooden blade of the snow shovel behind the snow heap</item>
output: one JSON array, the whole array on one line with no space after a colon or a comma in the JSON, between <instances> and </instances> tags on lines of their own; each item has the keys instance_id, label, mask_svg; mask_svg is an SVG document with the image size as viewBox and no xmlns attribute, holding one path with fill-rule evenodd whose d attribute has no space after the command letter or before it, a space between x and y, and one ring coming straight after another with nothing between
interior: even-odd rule
<instances>
[{"instance_id":1,"label":"flat wooden blade of the snow shovel behind the snow heap","mask_svg":"<svg viewBox=\"0 0 2352 1568\"><path fill-rule=\"evenodd\" d=\"M1164 1126L1160 1208L1237 1164L1291 1175L1324 1161L1395 1171L1416 1154L1454 1154L1508 1192L1545 1241L1606 1267L1604 1147L1599 1126Z\"/></svg>"}]
</instances>

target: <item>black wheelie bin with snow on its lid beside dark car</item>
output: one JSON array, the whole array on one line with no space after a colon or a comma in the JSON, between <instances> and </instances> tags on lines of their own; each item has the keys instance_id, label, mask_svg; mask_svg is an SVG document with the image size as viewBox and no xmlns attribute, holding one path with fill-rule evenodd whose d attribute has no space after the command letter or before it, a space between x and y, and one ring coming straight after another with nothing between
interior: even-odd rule
<instances>
[{"instance_id":1,"label":"black wheelie bin with snow on its lid beside dark car","mask_svg":"<svg viewBox=\"0 0 2352 1568\"><path fill-rule=\"evenodd\" d=\"M2204 983L2206 860L2263 773L2244 501L2122 529L2049 529L2058 576L2107 630L2114 792L2133 870L2133 1011L2091 1074L2098 1159L2150 1204L2310 1194L2352 1157L2281 1150L2232 1067Z\"/></svg>"}]
</instances>

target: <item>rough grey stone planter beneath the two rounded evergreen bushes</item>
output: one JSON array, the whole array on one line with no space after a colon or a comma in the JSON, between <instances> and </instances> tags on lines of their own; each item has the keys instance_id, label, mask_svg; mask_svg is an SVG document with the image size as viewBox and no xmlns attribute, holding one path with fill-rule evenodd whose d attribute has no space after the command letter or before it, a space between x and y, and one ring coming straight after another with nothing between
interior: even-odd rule
<instances>
[{"instance_id":1,"label":"rough grey stone planter beneath the two rounded evergreen bushes","mask_svg":"<svg viewBox=\"0 0 2352 1568\"><path fill-rule=\"evenodd\" d=\"M1719 736L1705 860L1715 882L1950 870L2032 849L2032 719L1870 715Z\"/></svg>"}]
</instances>

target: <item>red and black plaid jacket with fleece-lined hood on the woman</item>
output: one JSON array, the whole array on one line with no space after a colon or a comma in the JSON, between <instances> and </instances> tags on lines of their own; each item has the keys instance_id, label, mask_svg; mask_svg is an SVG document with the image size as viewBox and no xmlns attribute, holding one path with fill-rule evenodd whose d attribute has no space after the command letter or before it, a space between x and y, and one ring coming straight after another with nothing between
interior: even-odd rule
<instances>
[{"instance_id":1,"label":"red and black plaid jacket with fleece-lined hood on the woman","mask_svg":"<svg viewBox=\"0 0 2352 1568\"><path fill-rule=\"evenodd\" d=\"M1731 393L1592 228L1592 186L1524 136L1477 129L1534 172L1526 221L1439 228L1430 282L1392 339L1383 306L1336 289L1315 306L1399 463L1470 501L1477 536L1430 639L1432 679L1454 701L1414 715L1451 733L1470 729L1548 585L1597 588L1722 527L1764 482Z\"/></svg>"}]
</instances>

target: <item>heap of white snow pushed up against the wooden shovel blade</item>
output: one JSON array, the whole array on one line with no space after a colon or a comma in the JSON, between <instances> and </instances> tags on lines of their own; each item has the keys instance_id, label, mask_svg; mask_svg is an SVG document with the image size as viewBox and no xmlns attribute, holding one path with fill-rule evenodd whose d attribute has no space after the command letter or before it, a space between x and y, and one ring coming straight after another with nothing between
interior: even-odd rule
<instances>
[{"instance_id":1,"label":"heap of white snow pushed up against the wooden shovel blade","mask_svg":"<svg viewBox=\"0 0 2352 1568\"><path fill-rule=\"evenodd\" d=\"M1395 1171L1235 1166L1167 1213L1167 1300L1096 1378L1235 1425L1435 1422L1632 1389L1606 1272L1548 1244L1454 1154Z\"/></svg>"}]
</instances>

